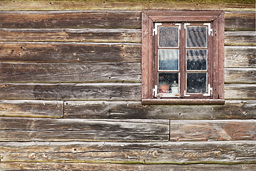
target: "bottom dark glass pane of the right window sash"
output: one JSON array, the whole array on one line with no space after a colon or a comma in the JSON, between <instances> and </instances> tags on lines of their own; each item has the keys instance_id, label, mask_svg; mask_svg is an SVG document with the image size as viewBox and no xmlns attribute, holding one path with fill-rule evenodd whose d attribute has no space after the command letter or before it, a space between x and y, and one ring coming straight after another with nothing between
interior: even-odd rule
<instances>
[{"instance_id":1,"label":"bottom dark glass pane of the right window sash","mask_svg":"<svg viewBox=\"0 0 256 171\"><path fill-rule=\"evenodd\" d=\"M188 73L187 92L206 93L206 73Z\"/></svg>"}]
</instances>

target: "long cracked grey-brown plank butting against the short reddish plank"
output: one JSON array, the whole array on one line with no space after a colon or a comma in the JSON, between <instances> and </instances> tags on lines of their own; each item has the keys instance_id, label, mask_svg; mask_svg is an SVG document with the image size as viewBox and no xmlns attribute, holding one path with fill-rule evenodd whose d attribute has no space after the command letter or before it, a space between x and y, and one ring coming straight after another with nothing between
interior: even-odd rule
<instances>
[{"instance_id":1,"label":"long cracked grey-brown plank butting against the short reddish plank","mask_svg":"<svg viewBox=\"0 0 256 171\"><path fill-rule=\"evenodd\" d=\"M168 120L0 118L1 141L168 141Z\"/></svg>"}]
</instances>

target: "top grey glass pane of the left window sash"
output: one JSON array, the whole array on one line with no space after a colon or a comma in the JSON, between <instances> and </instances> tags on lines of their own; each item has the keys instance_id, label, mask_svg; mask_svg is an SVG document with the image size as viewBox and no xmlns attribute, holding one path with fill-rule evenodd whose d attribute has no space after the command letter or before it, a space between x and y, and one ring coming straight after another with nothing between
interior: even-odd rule
<instances>
[{"instance_id":1,"label":"top grey glass pane of the left window sash","mask_svg":"<svg viewBox=\"0 0 256 171\"><path fill-rule=\"evenodd\" d=\"M159 46L178 47L178 27L159 27Z\"/></svg>"}]
</instances>

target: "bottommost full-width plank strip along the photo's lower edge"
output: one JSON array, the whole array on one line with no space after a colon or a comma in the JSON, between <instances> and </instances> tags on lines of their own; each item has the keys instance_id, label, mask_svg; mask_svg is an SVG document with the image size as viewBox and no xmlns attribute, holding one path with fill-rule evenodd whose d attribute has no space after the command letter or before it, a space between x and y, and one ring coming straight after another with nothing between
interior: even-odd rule
<instances>
[{"instance_id":1,"label":"bottommost full-width plank strip along the photo's lower edge","mask_svg":"<svg viewBox=\"0 0 256 171\"><path fill-rule=\"evenodd\" d=\"M1 162L2 170L106 170L106 171L254 171L255 164L217 165L217 164L191 164L191 165L143 165L143 164L114 164L114 163L84 163L84 162Z\"/></svg>"}]
</instances>

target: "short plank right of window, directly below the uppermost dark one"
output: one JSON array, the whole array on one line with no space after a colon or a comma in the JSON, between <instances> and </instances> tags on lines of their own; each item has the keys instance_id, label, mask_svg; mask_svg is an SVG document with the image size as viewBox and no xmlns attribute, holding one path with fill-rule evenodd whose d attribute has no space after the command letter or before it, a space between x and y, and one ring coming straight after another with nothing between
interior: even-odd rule
<instances>
[{"instance_id":1,"label":"short plank right of window, directly below the uppermost dark one","mask_svg":"<svg viewBox=\"0 0 256 171\"><path fill-rule=\"evenodd\" d=\"M225 31L225 46L256 46L255 31Z\"/></svg>"}]
</instances>

